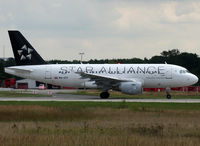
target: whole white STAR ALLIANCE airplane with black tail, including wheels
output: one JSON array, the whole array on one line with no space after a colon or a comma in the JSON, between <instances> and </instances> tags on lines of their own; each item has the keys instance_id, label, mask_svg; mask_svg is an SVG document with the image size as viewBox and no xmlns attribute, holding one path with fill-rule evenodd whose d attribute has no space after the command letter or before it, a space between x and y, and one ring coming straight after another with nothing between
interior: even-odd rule
<instances>
[{"instance_id":1,"label":"whole white STAR ALLIANCE airplane with black tail, including wheels","mask_svg":"<svg viewBox=\"0 0 200 146\"><path fill-rule=\"evenodd\" d=\"M109 90L124 94L142 94L143 88L190 86L197 76L172 64L47 64L17 30L8 31L16 66L5 72L22 78L74 88L101 89L100 98L109 98Z\"/></svg>"}]
</instances>

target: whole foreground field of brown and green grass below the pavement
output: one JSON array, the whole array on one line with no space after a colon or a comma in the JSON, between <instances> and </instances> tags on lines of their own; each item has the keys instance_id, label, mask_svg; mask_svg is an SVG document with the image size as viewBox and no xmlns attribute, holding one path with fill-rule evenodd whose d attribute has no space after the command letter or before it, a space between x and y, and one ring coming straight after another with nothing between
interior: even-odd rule
<instances>
[{"instance_id":1,"label":"whole foreground field of brown and green grass below the pavement","mask_svg":"<svg viewBox=\"0 0 200 146\"><path fill-rule=\"evenodd\" d=\"M199 145L199 107L173 103L0 102L0 143Z\"/></svg>"}]
</instances>

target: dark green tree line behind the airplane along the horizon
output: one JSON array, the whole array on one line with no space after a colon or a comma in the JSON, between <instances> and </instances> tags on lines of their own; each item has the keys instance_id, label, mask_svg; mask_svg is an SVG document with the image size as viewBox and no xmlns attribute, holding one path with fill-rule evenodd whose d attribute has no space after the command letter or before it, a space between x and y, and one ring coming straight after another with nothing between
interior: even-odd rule
<instances>
[{"instance_id":1,"label":"dark green tree line behind the airplane along the horizon","mask_svg":"<svg viewBox=\"0 0 200 146\"><path fill-rule=\"evenodd\" d=\"M49 60L49 64L79 64L79 60ZM150 59L144 58L130 58L130 59L90 59L83 61L83 64L132 64L132 63L168 63L176 64L187 68L191 73L200 77L200 57L195 53L180 52L178 49L163 51L160 55L151 57ZM6 61L0 59L0 81L6 78L16 78L4 72L4 67L15 66L14 58L8 58Z\"/></svg>"}]
</instances>

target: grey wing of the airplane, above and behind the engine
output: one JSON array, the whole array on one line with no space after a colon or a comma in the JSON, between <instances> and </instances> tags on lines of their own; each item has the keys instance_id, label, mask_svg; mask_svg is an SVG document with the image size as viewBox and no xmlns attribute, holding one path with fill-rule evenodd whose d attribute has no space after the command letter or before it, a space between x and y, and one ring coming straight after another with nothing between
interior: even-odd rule
<instances>
[{"instance_id":1,"label":"grey wing of the airplane, above and behind the engine","mask_svg":"<svg viewBox=\"0 0 200 146\"><path fill-rule=\"evenodd\" d=\"M90 74L90 73L84 73L84 72L76 72L81 76L82 79L89 79L90 81L95 81L95 84L99 87L103 88L110 88L110 87L116 87L119 86L121 82L128 82L133 80L129 79L123 79L123 78L116 78L106 75L99 75L99 74Z\"/></svg>"}]
</instances>

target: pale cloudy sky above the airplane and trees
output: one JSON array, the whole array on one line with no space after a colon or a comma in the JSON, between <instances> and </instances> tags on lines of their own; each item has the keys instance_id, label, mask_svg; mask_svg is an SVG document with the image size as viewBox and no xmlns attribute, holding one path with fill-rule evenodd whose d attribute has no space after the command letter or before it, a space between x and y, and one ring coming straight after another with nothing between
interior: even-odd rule
<instances>
[{"instance_id":1,"label":"pale cloudy sky above the airplane and trees","mask_svg":"<svg viewBox=\"0 0 200 146\"><path fill-rule=\"evenodd\" d=\"M19 30L45 59L200 55L199 0L0 0L0 57Z\"/></svg>"}]
</instances>

